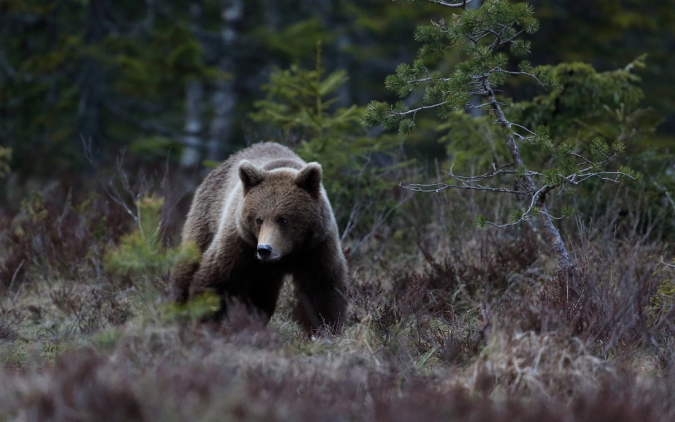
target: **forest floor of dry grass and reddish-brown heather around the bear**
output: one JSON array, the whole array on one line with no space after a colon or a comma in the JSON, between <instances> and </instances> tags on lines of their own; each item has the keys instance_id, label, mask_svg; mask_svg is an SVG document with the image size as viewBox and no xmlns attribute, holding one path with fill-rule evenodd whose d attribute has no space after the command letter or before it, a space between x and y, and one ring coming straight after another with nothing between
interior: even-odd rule
<instances>
[{"instance_id":1,"label":"forest floor of dry grass and reddish-brown heather around the bear","mask_svg":"<svg viewBox=\"0 0 675 422\"><path fill-rule=\"evenodd\" d=\"M570 223L572 277L527 225L382 225L309 340L288 286L267 325L177 314L165 269L108 271L123 210L45 197L0 219L0 421L675 420L671 245L638 214Z\"/></svg>"}]
</instances>

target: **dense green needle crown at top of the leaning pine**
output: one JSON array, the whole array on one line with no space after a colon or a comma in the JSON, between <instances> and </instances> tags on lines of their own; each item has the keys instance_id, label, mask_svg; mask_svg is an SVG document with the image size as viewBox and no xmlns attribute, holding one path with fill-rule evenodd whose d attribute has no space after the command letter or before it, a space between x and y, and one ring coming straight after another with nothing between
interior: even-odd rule
<instances>
[{"instance_id":1,"label":"dense green needle crown at top of the leaning pine","mask_svg":"<svg viewBox=\"0 0 675 422\"><path fill-rule=\"evenodd\" d=\"M529 43L518 39L520 32L532 33L538 24L528 4L509 4L503 0L486 1L482 7L453 15L451 21L439 20L433 25L418 27L415 38L424 44L418 51L418 60L413 65L403 63L396 73L387 77L385 84L398 96L407 96L420 84L428 84L420 108L401 107L373 102L364 114L364 123L392 126L392 120L403 120L419 110L435 108L439 117L446 119L453 111L470 106L471 96L486 94L484 82L491 88L498 87L506 79L509 55L506 47L515 56L529 51ZM427 65L432 56L437 56L458 47L463 51L462 60L454 64L454 70L442 77L432 72ZM409 126L409 124L407 125Z\"/></svg>"}]
</instances>

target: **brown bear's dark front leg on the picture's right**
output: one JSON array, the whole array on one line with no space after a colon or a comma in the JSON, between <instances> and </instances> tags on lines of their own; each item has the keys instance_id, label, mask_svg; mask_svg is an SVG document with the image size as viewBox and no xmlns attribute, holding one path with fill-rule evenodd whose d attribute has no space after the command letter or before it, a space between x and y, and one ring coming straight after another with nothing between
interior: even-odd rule
<instances>
[{"instance_id":1,"label":"brown bear's dark front leg on the picture's right","mask_svg":"<svg viewBox=\"0 0 675 422\"><path fill-rule=\"evenodd\" d=\"M326 241L297 256L293 280L297 292L295 316L308 333L328 328L335 333L346 319L347 261L339 243Z\"/></svg>"}]
</instances>

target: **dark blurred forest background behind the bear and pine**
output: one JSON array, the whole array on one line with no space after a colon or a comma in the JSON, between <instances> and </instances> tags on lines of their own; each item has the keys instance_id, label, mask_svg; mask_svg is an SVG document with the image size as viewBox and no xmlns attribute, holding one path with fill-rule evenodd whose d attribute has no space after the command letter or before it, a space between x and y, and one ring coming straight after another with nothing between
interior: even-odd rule
<instances>
[{"instance_id":1,"label":"dark blurred forest background behind the bear and pine","mask_svg":"<svg viewBox=\"0 0 675 422\"><path fill-rule=\"evenodd\" d=\"M638 71L643 106L662 123L639 149L652 158L671 153L675 4L530 3L541 23L531 39L534 65L615 70L648 55ZM12 150L1 198L28 180L86 179L83 142L103 163L124 148L129 166L149 168L167 160L191 167L288 138L250 113L274 69L315 68L318 43L326 73L348 78L335 107L393 100L386 75L414 58L416 25L439 15L432 5L390 1L0 1L0 145ZM439 145L437 122L423 129L406 151L443 160L453 146Z\"/></svg>"}]
</instances>

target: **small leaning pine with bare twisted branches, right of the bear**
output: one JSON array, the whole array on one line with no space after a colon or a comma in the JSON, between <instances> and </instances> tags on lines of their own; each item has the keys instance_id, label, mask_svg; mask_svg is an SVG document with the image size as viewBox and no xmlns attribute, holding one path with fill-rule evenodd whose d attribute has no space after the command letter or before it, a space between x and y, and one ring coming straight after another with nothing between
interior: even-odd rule
<instances>
[{"instance_id":1,"label":"small leaning pine with bare twisted branches, right of the bear","mask_svg":"<svg viewBox=\"0 0 675 422\"><path fill-rule=\"evenodd\" d=\"M555 217L548 210L547 198L554 193L564 193L587 179L619 181L622 177L639 177L627 167L610 170L610 161L625 149L625 137L617 136L612 143L600 136L590 141L555 139L543 124L526 127L522 120L516 122L508 116L513 103L501 96L501 90L514 77L529 77L537 84L551 89L552 95L560 94L565 89L555 79L555 68L533 68L527 60L522 60L518 68L512 66L515 58L522 58L529 53L530 42L522 38L534 34L539 27L529 4L487 0L480 8L468 9L466 6L471 0L398 1L439 4L454 10L461 9L461 15L453 14L449 20L441 19L432 25L418 27L415 37L423 44L418 51L418 58L412 64L399 65L396 73L385 81L388 89L408 102L413 98L413 91L424 87L422 104L413 106L406 101L395 104L372 101L364 113L364 123L380 124L385 129L398 129L401 134L409 134L416 127L416 116L426 110L435 110L442 120L449 121L468 110L486 113L492 124L503 133L509 155L507 165L493 166L484 174L469 177L450 171L446 173L451 179L450 183L405 187L427 192L449 187L470 188L520 197L522 209L511 210L506 222L491 222L483 215L477 215L475 226L508 226L536 218L555 252L560 271L571 274L574 263L555 226L555 219L571 215L574 211L570 207L563 207L561 215ZM454 63L449 71L433 70L432 66L442 60L446 51L453 51L452 57L461 57L461 60ZM641 61L637 60L633 65L641 65ZM593 89L615 91L617 96L622 96L622 90L632 87L635 82L629 76L632 67L617 71L619 77L616 77L616 72L600 74L591 68L595 77L591 78L595 84ZM635 89L633 87L631 93ZM513 113L517 112L513 110ZM522 148L537 148L546 154L548 159L544 168L535 168L535 163L525 162ZM508 180L499 186L490 184L493 179L504 178Z\"/></svg>"}]
</instances>

